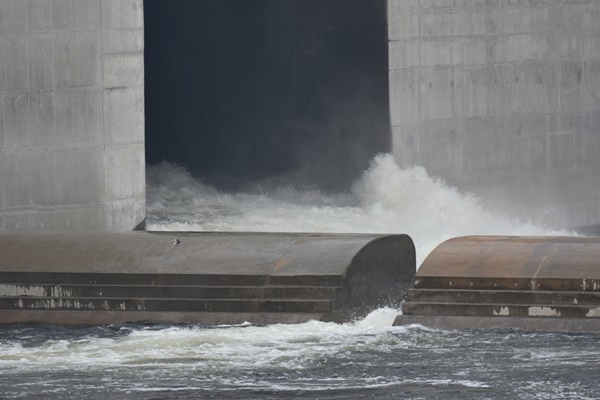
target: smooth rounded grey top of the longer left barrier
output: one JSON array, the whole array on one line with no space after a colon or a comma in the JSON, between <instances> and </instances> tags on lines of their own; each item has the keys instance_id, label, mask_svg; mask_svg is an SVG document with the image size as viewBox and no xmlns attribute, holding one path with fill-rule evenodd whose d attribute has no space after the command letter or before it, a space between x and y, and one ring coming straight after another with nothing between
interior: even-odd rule
<instances>
[{"instance_id":1,"label":"smooth rounded grey top of the longer left barrier","mask_svg":"<svg viewBox=\"0 0 600 400\"><path fill-rule=\"evenodd\" d=\"M383 237L404 242L408 238L362 234L0 231L0 271L343 275L360 251L385 247L378 240ZM174 244L175 239L179 239L179 244Z\"/></svg>"}]
</instances>

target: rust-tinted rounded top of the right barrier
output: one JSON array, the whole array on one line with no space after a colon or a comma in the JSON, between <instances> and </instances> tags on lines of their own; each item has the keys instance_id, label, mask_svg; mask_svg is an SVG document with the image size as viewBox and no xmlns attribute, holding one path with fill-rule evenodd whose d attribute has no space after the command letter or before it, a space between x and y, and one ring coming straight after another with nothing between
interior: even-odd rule
<instances>
[{"instance_id":1,"label":"rust-tinted rounded top of the right barrier","mask_svg":"<svg viewBox=\"0 0 600 400\"><path fill-rule=\"evenodd\" d=\"M458 237L429 254L415 286L600 290L599 256L599 237Z\"/></svg>"}]
</instances>

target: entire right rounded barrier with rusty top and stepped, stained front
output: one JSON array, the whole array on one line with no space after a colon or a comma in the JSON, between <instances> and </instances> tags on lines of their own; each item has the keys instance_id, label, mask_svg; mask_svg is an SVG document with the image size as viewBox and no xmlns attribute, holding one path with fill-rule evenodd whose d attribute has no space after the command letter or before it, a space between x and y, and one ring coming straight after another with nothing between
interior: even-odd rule
<instances>
[{"instance_id":1,"label":"entire right rounded barrier with rusty top and stepped, stained front","mask_svg":"<svg viewBox=\"0 0 600 400\"><path fill-rule=\"evenodd\" d=\"M419 268L396 323L545 330L546 320L566 320L558 330L600 328L598 254L600 237L450 239Z\"/></svg>"}]
</instances>

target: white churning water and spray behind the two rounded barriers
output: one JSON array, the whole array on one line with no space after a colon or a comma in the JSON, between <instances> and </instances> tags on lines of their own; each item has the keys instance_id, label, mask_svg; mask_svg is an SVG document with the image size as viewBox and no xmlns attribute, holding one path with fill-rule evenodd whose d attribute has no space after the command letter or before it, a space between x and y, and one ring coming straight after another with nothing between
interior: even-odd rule
<instances>
[{"instance_id":1,"label":"white churning water and spray behind the two rounded barriers","mask_svg":"<svg viewBox=\"0 0 600 400\"><path fill-rule=\"evenodd\" d=\"M450 237L567 234L492 213L423 167L401 169L390 154L336 195L290 186L225 193L170 163L148 167L147 182L148 230L407 233L418 264Z\"/></svg>"}]
</instances>

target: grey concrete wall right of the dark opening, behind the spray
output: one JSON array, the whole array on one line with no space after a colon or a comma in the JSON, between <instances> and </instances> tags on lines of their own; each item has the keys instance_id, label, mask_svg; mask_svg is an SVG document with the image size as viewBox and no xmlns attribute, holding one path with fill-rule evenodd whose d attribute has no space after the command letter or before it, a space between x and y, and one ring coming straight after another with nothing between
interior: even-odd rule
<instances>
[{"instance_id":1,"label":"grey concrete wall right of the dark opening, behind the spray","mask_svg":"<svg viewBox=\"0 0 600 400\"><path fill-rule=\"evenodd\" d=\"M600 1L388 0L393 152L493 207L600 223Z\"/></svg>"}]
</instances>

